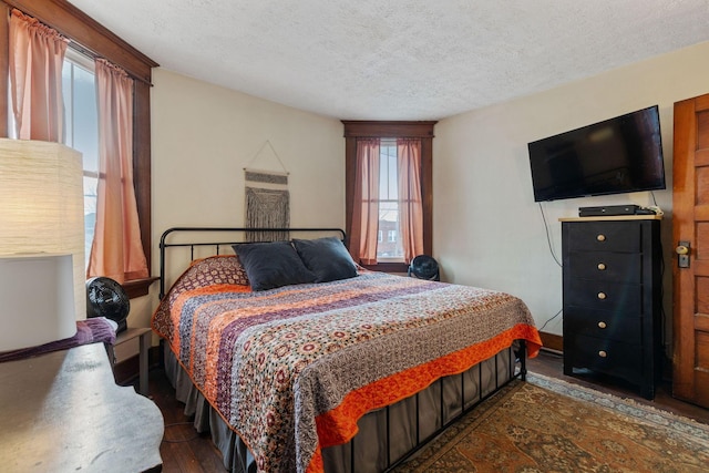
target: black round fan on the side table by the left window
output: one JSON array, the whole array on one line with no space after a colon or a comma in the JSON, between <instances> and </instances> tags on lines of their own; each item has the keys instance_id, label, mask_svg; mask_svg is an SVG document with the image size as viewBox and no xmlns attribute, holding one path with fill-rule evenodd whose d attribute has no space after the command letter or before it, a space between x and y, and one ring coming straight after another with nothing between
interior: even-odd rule
<instances>
[{"instance_id":1,"label":"black round fan on the side table by the left window","mask_svg":"<svg viewBox=\"0 0 709 473\"><path fill-rule=\"evenodd\" d=\"M127 328L125 319L130 310L131 299L119 282L103 276L86 280L86 317L113 320L120 332Z\"/></svg>"}]
</instances>

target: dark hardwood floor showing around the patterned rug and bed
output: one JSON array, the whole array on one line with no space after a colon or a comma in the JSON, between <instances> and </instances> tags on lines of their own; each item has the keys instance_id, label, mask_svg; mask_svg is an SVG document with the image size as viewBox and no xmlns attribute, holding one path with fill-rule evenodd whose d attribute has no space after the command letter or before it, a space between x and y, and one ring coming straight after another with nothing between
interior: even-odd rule
<instances>
[{"instance_id":1,"label":"dark hardwood floor showing around the patterned rug and bed","mask_svg":"<svg viewBox=\"0 0 709 473\"><path fill-rule=\"evenodd\" d=\"M639 403L709 424L709 409L702 409L672 398L669 380L664 380L657 387L655 399L648 401L636 392L635 387L623 384L617 379L597 374L566 377L563 373L562 364L563 360L559 354L542 351L537 358L527 361L527 369L533 373L559 378L621 398L630 398ZM161 444L163 472L226 472L222 464L222 455L212 444L209 435L197 434L193 429L191 419L183 412L184 404L175 400L175 391L163 370L151 370L150 390L151 399L157 404L165 418L165 436Z\"/></svg>"}]
</instances>

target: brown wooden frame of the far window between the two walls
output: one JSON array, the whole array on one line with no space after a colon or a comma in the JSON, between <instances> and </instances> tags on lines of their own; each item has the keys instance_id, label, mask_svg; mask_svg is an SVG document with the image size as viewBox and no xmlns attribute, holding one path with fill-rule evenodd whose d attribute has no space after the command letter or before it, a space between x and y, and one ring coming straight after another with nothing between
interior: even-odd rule
<instances>
[{"instance_id":1,"label":"brown wooden frame of the far window between the two walls","mask_svg":"<svg viewBox=\"0 0 709 473\"><path fill-rule=\"evenodd\" d=\"M433 249L433 126L436 121L356 121L342 120L345 125L345 212L347 223L345 230L351 233L349 216L354 208L354 178L357 175L357 140L377 138L421 138L421 197L423 199L423 253L432 254ZM349 244L349 241L348 241ZM407 273L405 263L380 261L377 265L364 265L367 269L386 273Z\"/></svg>"}]
</instances>

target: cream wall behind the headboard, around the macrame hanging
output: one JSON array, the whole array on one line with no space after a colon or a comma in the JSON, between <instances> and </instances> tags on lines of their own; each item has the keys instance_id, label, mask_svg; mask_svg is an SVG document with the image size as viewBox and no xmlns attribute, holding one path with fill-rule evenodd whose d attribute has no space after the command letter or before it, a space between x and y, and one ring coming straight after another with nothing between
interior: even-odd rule
<instances>
[{"instance_id":1,"label":"cream wall behind the headboard, around the macrame hanging","mask_svg":"<svg viewBox=\"0 0 709 473\"><path fill-rule=\"evenodd\" d=\"M153 84L154 276L165 229L244 226L246 166L281 171L278 160L282 162L289 172L292 227L345 227L341 122L164 69L153 71ZM157 306L157 284L150 296L132 300L131 306L129 325L148 327Z\"/></svg>"}]
</instances>

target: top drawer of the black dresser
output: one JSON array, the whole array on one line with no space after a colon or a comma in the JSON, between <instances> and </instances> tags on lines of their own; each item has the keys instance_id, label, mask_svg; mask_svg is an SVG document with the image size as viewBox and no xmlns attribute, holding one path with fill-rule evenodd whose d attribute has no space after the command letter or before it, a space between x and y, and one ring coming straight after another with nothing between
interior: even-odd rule
<instances>
[{"instance_id":1,"label":"top drawer of the black dresser","mask_svg":"<svg viewBox=\"0 0 709 473\"><path fill-rule=\"evenodd\" d=\"M640 253L640 227L627 222L574 222L567 225L568 251Z\"/></svg>"}]
</instances>

